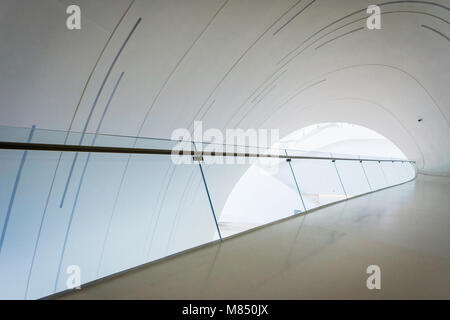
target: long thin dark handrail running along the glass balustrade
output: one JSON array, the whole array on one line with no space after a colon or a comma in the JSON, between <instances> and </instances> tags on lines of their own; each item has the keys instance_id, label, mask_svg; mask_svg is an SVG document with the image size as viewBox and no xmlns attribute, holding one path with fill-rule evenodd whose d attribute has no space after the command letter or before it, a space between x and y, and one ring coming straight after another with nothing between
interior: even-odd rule
<instances>
[{"instance_id":1,"label":"long thin dark handrail running along the glass balustrade","mask_svg":"<svg viewBox=\"0 0 450 320\"><path fill-rule=\"evenodd\" d=\"M409 160L393 159L364 159L364 158L338 158L338 157L314 157L314 156L294 156L283 154L264 153L242 153L242 152L214 152L214 151L191 151L191 150L168 150L168 149L145 149L145 148L125 148L125 147L101 147L66 144L42 144L25 142L0 142L0 149L6 150L34 150L34 151L61 151L61 152L93 152L93 153L127 153L127 154L153 154L153 155L178 155L193 156L202 158L212 157L246 157L246 158L278 158L278 159L310 159L310 160L332 160L332 161L374 161L374 162L408 162Z\"/></svg>"}]
</instances>

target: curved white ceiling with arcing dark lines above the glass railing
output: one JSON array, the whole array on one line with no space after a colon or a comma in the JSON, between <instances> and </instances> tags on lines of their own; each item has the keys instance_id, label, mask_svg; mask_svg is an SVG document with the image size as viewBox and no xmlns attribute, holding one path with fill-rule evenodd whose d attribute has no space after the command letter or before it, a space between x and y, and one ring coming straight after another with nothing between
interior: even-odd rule
<instances>
[{"instance_id":1,"label":"curved white ceiling with arcing dark lines above the glass railing","mask_svg":"<svg viewBox=\"0 0 450 320\"><path fill-rule=\"evenodd\" d=\"M365 28L370 4L381 30ZM102 133L353 122L450 175L449 4L2 0L0 124L93 132L124 72Z\"/></svg>"}]
</instances>

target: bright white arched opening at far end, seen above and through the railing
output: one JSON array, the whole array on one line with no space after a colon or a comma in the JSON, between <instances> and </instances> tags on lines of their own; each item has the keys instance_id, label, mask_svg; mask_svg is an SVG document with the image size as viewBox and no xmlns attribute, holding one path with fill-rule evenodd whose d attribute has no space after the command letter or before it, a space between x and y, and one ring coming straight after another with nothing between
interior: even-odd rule
<instances>
[{"instance_id":1,"label":"bright white arched opening at far end, seen above and through the railing","mask_svg":"<svg viewBox=\"0 0 450 320\"><path fill-rule=\"evenodd\" d=\"M272 146L288 155L378 161L285 159L257 162L236 176L219 214L223 236L232 235L332 202L409 180L405 154L383 135L350 123L319 123L296 130ZM286 150L286 151L285 151ZM348 156L348 157L347 157Z\"/></svg>"}]
</instances>

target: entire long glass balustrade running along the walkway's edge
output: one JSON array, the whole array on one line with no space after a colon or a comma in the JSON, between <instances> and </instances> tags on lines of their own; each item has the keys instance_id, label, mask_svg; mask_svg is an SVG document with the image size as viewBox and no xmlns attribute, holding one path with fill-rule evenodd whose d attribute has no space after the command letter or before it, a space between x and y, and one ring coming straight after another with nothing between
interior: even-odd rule
<instances>
[{"instance_id":1,"label":"entire long glass balustrade running along the walkway's edge","mask_svg":"<svg viewBox=\"0 0 450 320\"><path fill-rule=\"evenodd\" d=\"M73 270L85 284L416 176L407 161L299 150L12 127L0 141L282 156L0 149L0 299L45 297Z\"/></svg>"}]
</instances>

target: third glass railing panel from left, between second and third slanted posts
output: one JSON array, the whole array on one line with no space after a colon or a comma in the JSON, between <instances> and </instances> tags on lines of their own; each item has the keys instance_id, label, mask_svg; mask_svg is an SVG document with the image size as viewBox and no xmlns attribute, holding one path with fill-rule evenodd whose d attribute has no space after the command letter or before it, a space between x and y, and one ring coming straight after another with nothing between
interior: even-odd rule
<instances>
[{"instance_id":1,"label":"third glass railing panel from left, between second and third slanted posts","mask_svg":"<svg viewBox=\"0 0 450 320\"><path fill-rule=\"evenodd\" d=\"M307 210L346 198L331 160L292 159L291 163Z\"/></svg>"}]
</instances>

